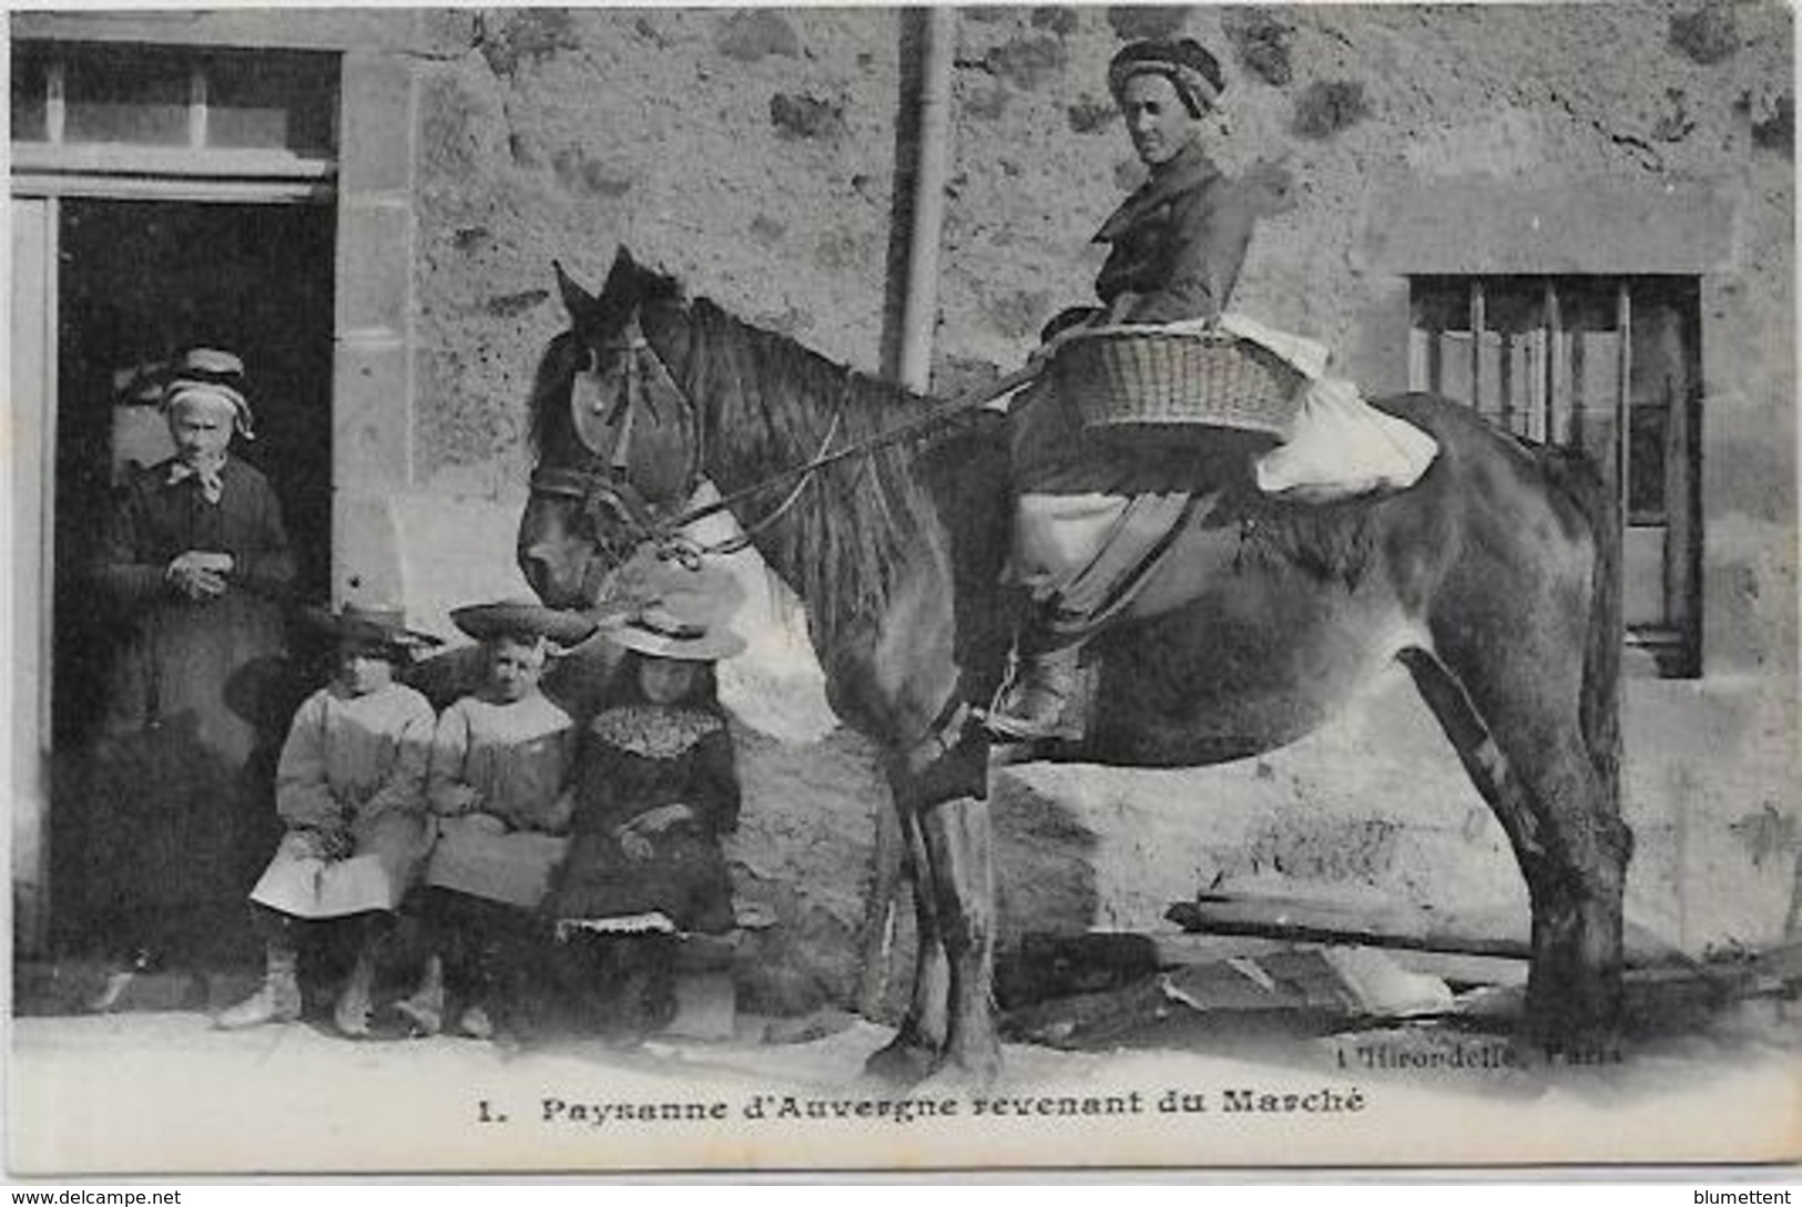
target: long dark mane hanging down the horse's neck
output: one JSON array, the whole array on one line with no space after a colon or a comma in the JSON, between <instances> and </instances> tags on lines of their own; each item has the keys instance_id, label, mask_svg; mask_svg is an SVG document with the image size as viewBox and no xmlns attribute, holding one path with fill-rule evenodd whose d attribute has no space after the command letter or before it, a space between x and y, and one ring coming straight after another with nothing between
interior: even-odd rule
<instances>
[{"instance_id":1,"label":"long dark mane hanging down the horse's neck","mask_svg":"<svg viewBox=\"0 0 1802 1207\"><path fill-rule=\"evenodd\" d=\"M688 396L712 407L708 450L721 490L744 486L879 436L930 400L764 331L701 297L688 308ZM834 427L836 425L836 427ZM820 636L883 614L910 551L933 540L933 508L908 463L921 440L872 449L813 476L769 528L773 569L807 602ZM775 508L787 485L757 504Z\"/></svg>"}]
</instances>

